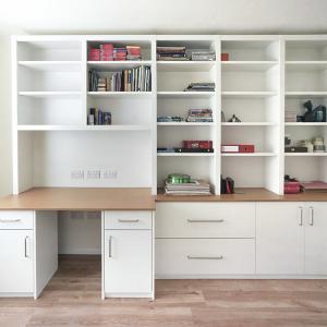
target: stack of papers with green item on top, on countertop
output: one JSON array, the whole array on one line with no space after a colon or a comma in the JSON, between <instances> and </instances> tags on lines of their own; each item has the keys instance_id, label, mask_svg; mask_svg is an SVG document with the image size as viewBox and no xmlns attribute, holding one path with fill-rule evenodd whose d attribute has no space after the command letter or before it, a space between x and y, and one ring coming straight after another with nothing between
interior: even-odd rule
<instances>
[{"instance_id":1,"label":"stack of papers with green item on top, on countertop","mask_svg":"<svg viewBox=\"0 0 327 327\"><path fill-rule=\"evenodd\" d=\"M184 174L170 174L165 183L166 195L210 195L210 185Z\"/></svg>"}]
</instances>

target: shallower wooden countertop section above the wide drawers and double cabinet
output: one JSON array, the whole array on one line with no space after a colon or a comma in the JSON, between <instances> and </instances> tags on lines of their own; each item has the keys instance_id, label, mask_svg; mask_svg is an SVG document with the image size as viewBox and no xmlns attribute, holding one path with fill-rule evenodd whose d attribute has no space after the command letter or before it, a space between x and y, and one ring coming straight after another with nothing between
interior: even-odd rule
<instances>
[{"instance_id":1,"label":"shallower wooden countertop section above the wide drawers and double cabinet","mask_svg":"<svg viewBox=\"0 0 327 327\"><path fill-rule=\"evenodd\" d=\"M157 202L327 202L327 193L277 195L266 189L237 189L235 194L165 195L158 190Z\"/></svg>"}]
</instances>

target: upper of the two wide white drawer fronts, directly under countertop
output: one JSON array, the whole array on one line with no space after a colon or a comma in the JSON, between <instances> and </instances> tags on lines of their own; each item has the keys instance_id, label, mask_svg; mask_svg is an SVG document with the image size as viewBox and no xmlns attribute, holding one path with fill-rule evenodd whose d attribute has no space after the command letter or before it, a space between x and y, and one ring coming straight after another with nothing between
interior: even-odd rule
<instances>
[{"instance_id":1,"label":"upper of the two wide white drawer fronts, directly under countertop","mask_svg":"<svg viewBox=\"0 0 327 327\"><path fill-rule=\"evenodd\" d=\"M158 203L156 238L254 238L254 203Z\"/></svg>"}]
</instances>

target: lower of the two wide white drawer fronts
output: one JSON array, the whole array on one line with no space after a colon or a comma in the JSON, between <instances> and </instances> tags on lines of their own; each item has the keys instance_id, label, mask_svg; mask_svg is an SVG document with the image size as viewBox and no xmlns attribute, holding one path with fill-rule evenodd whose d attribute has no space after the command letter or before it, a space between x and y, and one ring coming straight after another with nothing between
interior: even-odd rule
<instances>
[{"instance_id":1,"label":"lower of the two wide white drawer fronts","mask_svg":"<svg viewBox=\"0 0 327 327\"><path fill-rule=\"evenodd\" d=\"M157 277L206 277L255 272L252 239L158 239Z\"/></svg>"}]
</instances>

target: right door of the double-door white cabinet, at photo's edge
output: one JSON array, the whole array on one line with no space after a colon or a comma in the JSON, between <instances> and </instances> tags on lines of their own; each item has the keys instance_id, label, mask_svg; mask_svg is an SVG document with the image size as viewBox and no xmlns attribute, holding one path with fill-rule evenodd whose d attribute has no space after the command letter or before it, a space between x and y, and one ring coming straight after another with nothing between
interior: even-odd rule
<instances>
[{"instance_id":1,"label":"right door of the double-door white cabinet, at photo's edge","mask_svg":"<svg viewBox=\"0 0 327 327\"><path fill-rule=\"evenodd\" d=\"M327 274L327 204L306 206L305 274Z\"/></svg>"}]
</instances>

